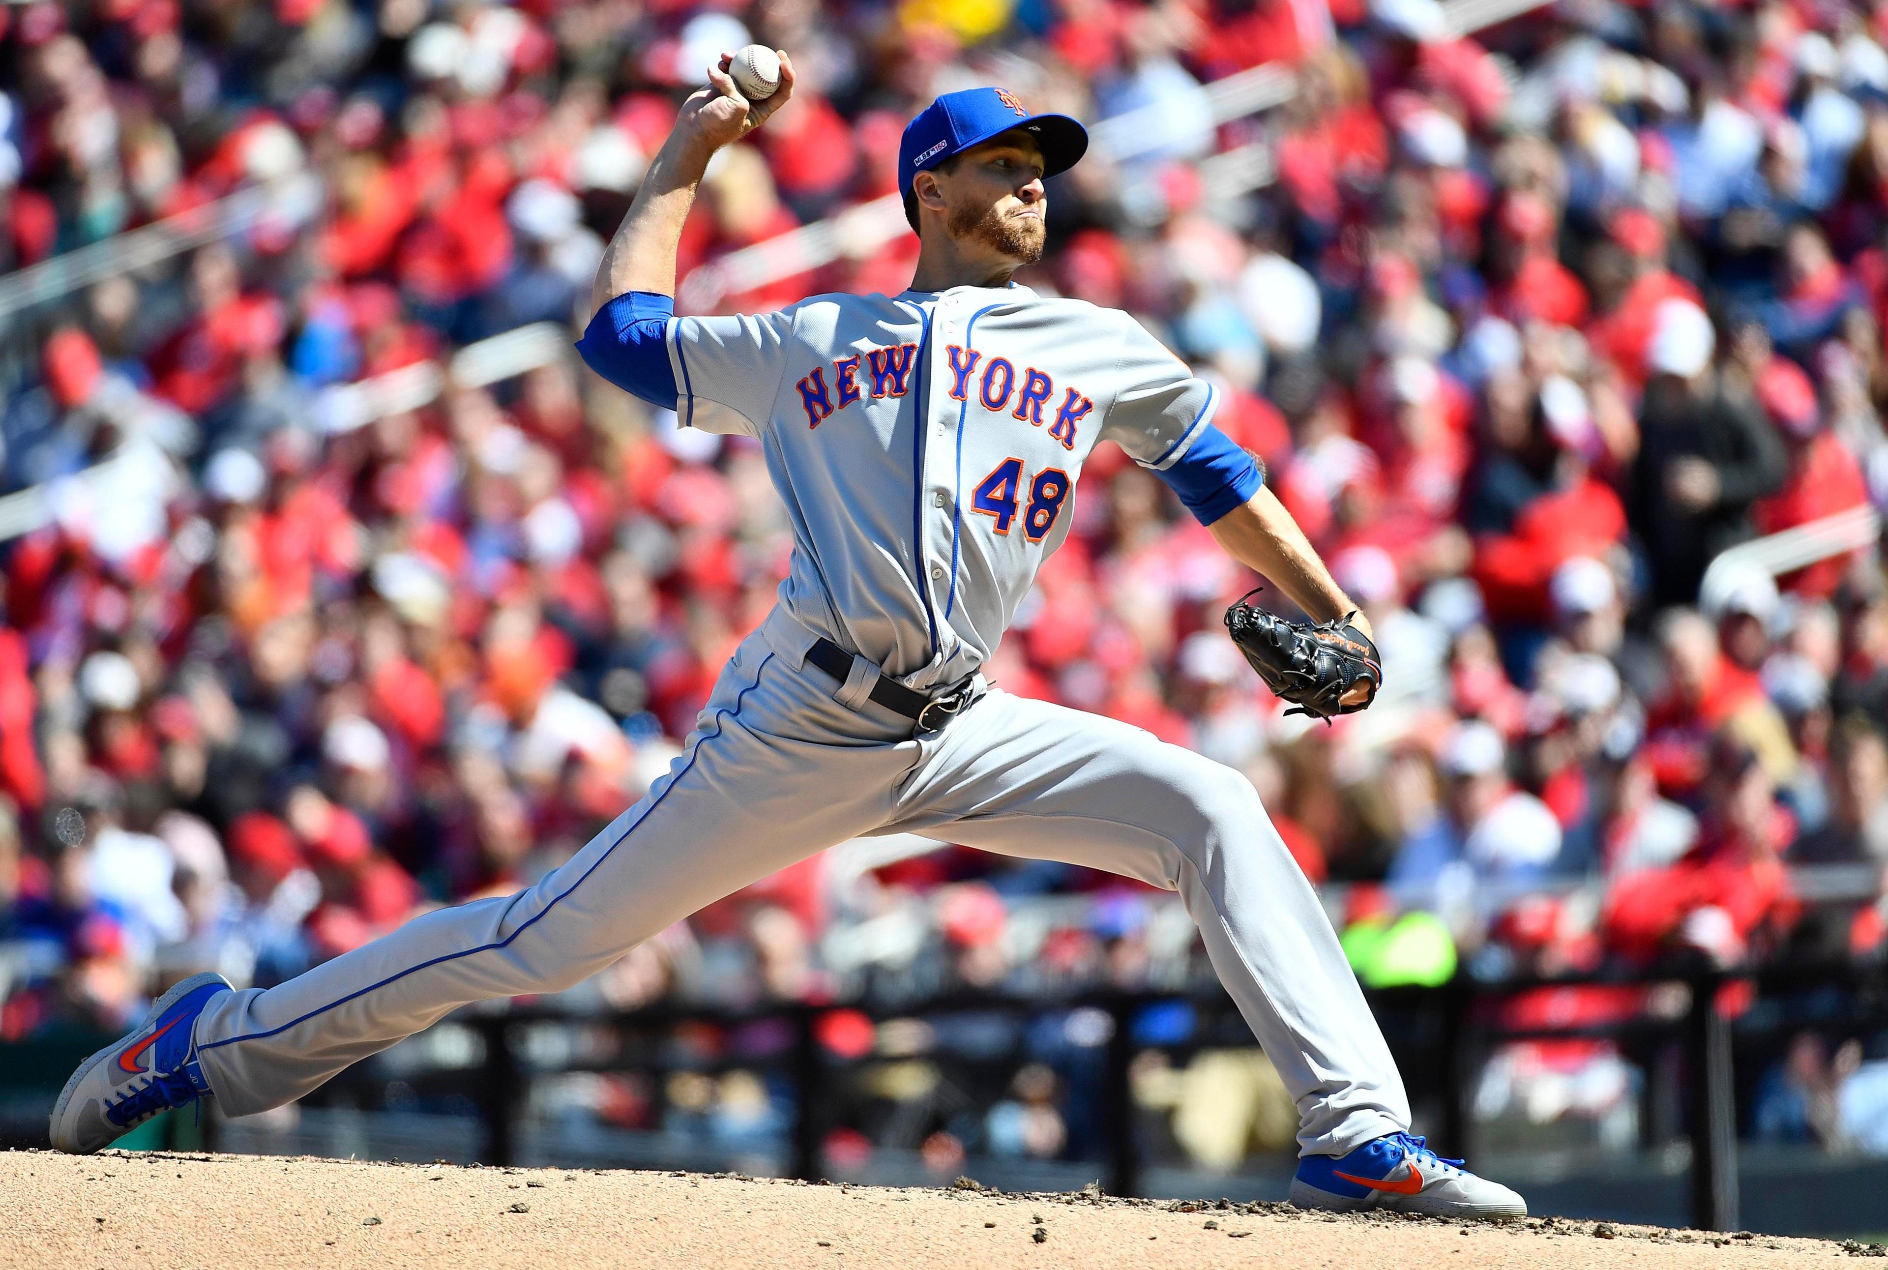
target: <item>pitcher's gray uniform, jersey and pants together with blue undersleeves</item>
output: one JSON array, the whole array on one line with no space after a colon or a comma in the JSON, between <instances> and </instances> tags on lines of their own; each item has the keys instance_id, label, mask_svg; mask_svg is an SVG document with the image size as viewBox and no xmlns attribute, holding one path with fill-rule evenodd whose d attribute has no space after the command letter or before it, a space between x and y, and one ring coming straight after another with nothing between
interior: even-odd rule
<instances>
[{"instance_id":1,"label":"pitcher's gray uniform, jersey and pants together with blue undersleeves","mask_svg":"<svg viewBox=\"0 0 1888 1270\"><path fill-rule=\"evenodd\" d=\"M463 1004L570 987L821 847L925 832L1178 891L1297 1102L1301 1147L1407 1128L1376 1021L1252 783L974 674L1069 534L1099 440L1165 470L1201 519L1250 496L1250 459L1208 423L1214 391L1123 313L1023 287L651 308L661 321L612 300L580 347L683 423L761 440L797 536L780 604L668 774L536 885L204 1006L196 1053L225 1111L296 1098ZM844 683L808 659L821 636L855 653ZM916 689L969 679L974 700L914 730L863 691L878 668Z\"/></svg>"}]
</instances>

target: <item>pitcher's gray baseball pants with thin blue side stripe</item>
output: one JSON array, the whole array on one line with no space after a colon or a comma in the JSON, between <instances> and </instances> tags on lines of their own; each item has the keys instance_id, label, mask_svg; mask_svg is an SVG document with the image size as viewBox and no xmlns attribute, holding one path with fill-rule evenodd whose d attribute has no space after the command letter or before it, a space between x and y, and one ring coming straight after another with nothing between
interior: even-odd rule
<instances>
[{"instance_id":1,"label":"pitcher's gray baseball pants with thin blue side stripe","mask_svg":"<svg viewBox=\"0 0 1888 1270\"><path fill-rule=\"evenodd\" d=\"M196 1023L221 1108L291 1102L459 1006L557 993L634 944L850 838L953 842L1178 891L1214 970L1299 1110L1342 1155L1408 1128L1408 1100L1310 883L1244 776L1140 728L989 689L940 732L834 698L812 634L776 611L721 672L687 749L642 802L510 898L425 913Z\"/></svg>"}]
</instances>

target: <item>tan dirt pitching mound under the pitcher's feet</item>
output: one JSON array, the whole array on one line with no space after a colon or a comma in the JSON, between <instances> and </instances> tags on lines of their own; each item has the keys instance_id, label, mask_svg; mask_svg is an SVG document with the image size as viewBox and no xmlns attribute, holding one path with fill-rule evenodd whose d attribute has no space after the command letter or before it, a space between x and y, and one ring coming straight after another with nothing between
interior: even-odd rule
<instances>
[{"instance_id":1,"label":"tan dirt pitching mound under the pitcher's feet","mask_svg":"<svg viewBox=\"0 0 1888 1270\"><path fill-rule=\"evenodd\" d=\"M0 1153L0 1266L1801 1266L1860 1244L1590 1221L111 1151ZM1860 1268L1858 1268L1860 1270Z\"/></svg>"}]
</instances>

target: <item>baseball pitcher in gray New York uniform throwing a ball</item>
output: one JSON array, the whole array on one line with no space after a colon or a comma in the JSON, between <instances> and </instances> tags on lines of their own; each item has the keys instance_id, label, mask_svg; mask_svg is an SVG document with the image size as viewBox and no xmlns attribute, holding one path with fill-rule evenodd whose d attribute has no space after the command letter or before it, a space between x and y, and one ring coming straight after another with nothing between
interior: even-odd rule
<instances>
[{"instance_id":1,"label":"baseball pitcher in gray New York uniform throwing a ball","mask_svg":"<svg viewBox=\"0 0 1888 1270\"><path fill-rule=\"evenodd\" d=\"M649 164L578 349L685 426L761 442L795 536L778 606L668 774L566 864L272 989L185 979L74 1074L53 1144L96 1151L211 1095L228 1115L291 1102L459 1006L566 989L814 851L918 832L1178 891L1297 1102L1299 1204L1524 1215L1410 1136L1376 1021L1246 777L982 674L1110 440L1322 621L1231 623L1267 681L1327 715L1380 679L1367 625L1212 425L1214 389L1125 313L1010 281L1042 255L1042 181L1082 159L1082 125L1003 89L940 96L899 153L921 242L908 291L676 317L676 245L710 157L793 92L785 55L767 100L727 72Z\"/></svg>"}]
</instances>

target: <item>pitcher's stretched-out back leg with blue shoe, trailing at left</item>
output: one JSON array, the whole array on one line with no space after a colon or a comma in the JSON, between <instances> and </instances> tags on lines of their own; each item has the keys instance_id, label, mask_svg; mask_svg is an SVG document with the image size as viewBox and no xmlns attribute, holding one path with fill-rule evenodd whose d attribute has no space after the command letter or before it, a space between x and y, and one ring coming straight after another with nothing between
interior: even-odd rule
<instances>
[{"instance_id":1,"label":"pitcher's stretched-out back leg with blue shoe, trailing at left","mask_svg":"<svg viewBox=\"0 0 1888 1270\"><path fill-rule=\"evenodd\" d=\"M914 751L819 744L808 693L750 640L668 774L538 885L425 913L278 987L193 1000L177 1036L194 1028L194 1044L164 1072L121 1074L98 1055L81 1068L55 1108L55 1145L98 1149L130 1128L113 1111L147 1117L206 1091L230 1115L279 1106L459 1006L566 989L704 904L872 828Z\"/></svg>"}]
</instances>

